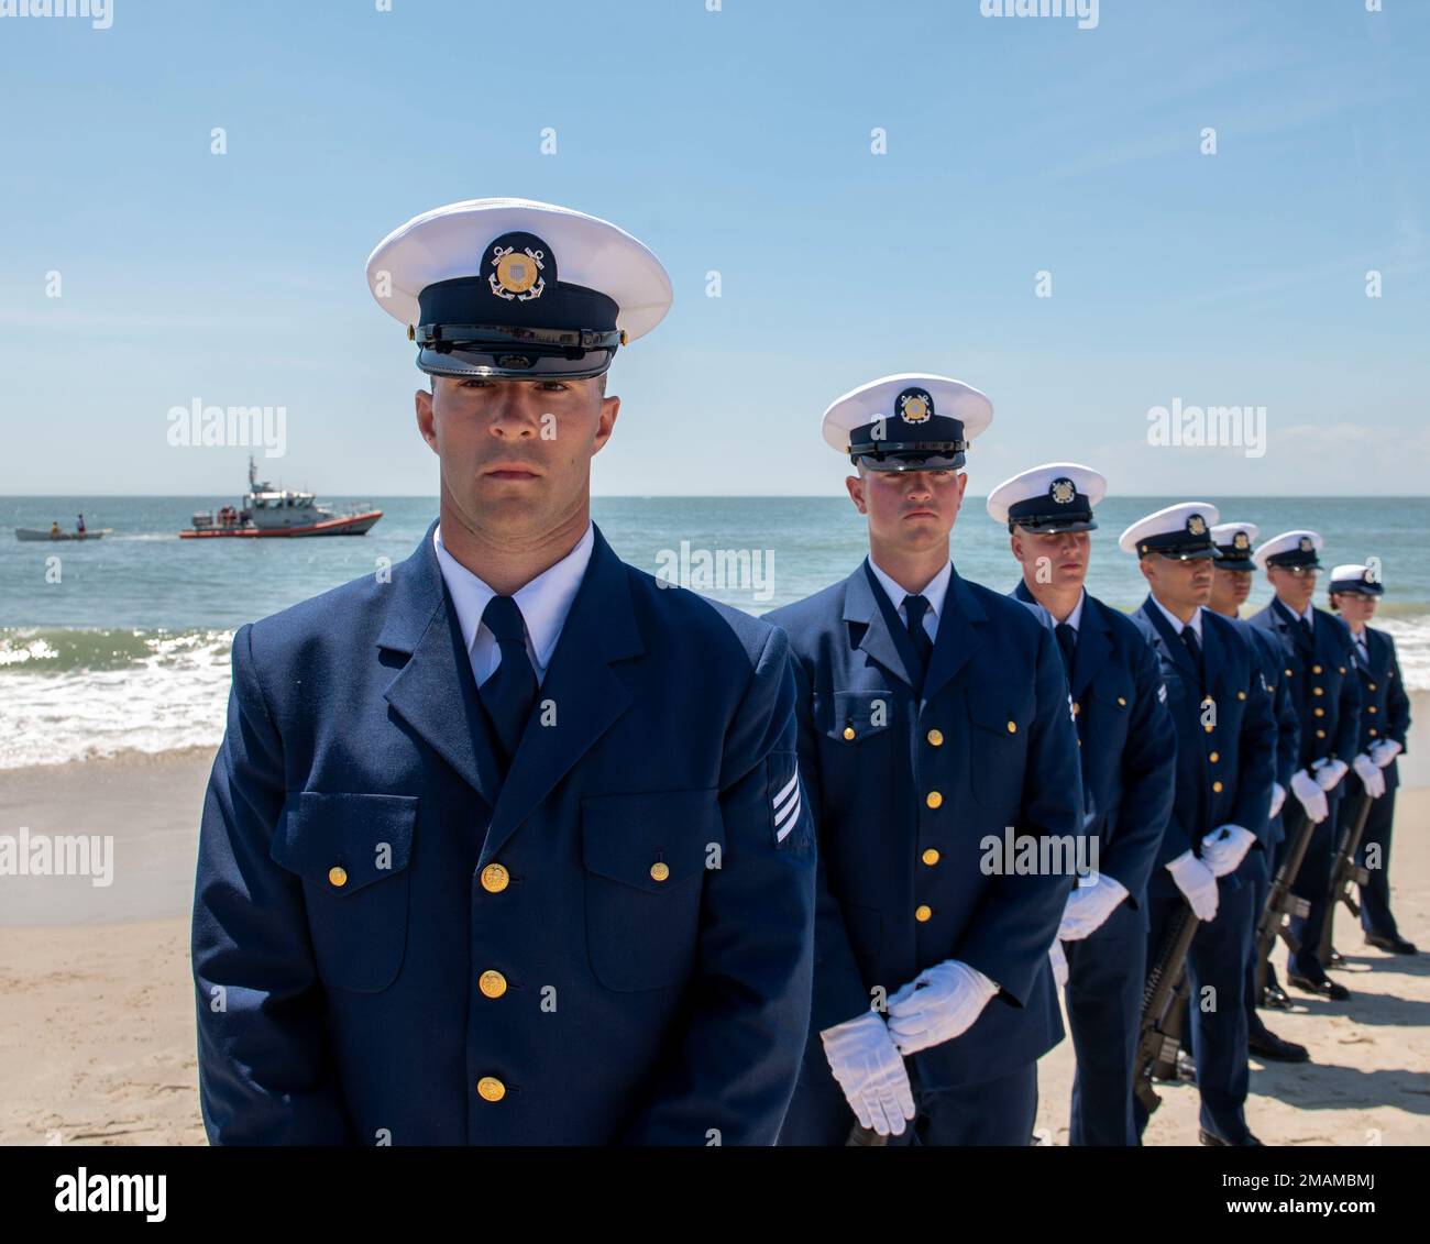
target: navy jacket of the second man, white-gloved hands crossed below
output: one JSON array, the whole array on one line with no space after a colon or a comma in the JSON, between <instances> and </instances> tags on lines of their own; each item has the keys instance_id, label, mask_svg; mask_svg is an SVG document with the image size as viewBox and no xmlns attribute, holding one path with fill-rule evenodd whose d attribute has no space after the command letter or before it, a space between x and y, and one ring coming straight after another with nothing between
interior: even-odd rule
<instances>
[{"instance_id":1,"label":"navy jacket of the second man, white-gloved hands crossed below","mask_svg":"<svg viewBox=\"0 0 1430 1244\"><path fill-rule=\"evenodd\" d=\"M797 658L799 768L818 814L802 1078L832 1085L821 1030L944 959L977 968L1001 992L965 1034L912 1055L922 1087L1025 1067L1062 1038L1047 952L1083 832L1057 641L1022 605L955 571L919 705L902 655L908 632L867 563L766 616L789 632ZM1060 839L1065 867L985 871L985 839L1001 844L1005 826L1042 845Z\"/></svg>"}]
</instances>

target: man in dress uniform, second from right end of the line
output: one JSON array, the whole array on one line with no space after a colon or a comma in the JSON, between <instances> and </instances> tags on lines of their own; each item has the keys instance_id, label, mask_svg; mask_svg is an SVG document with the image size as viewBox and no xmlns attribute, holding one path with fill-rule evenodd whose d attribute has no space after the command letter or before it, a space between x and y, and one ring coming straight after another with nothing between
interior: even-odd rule
<instances>
[{"instance_id":1,"label":"man in dress uniform, second from right end of the line","mask_svg":"<svg viewBox=\"0 0 1430 1244\"><path fill-rule=\"evenodd\" d=\"M1360 679L1353 671L1350 633L1333 615L1314 605L1321 538L1313 530L1290 530L1257 546L1253 559L1266 571L1276 598L1248 621L1280 643L1284 672L1301 726L1301 751L1291 775L1291 794L1281 809L1286 838L1310 835L1291 891L1308 912L1291 918L1297 949L1288 955L1287 979L1297 989L1333 1001L1350 991L1326 975L1320 961L1336 852L1336 804L1343 778L1360 751Z\"/></svg>"}]
</instances>

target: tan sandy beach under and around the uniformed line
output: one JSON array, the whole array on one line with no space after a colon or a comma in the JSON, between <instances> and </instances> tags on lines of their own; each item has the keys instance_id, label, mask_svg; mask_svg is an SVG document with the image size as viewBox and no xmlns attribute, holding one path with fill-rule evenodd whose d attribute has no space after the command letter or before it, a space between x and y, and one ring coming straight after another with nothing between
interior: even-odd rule
<instances>
[{"instance_id":1,"label":"tan sandy beach under and around the uniformed line","mask_svg":"<svg viewBox=\"0 0 1430 1244\"><path fill-rule=\"evenodd\" d=\"M0 1144L204 1144L187 909L210 762L187 752L0 774L4 832L114 838L107 887L0 879ZM1427 828L1430 789L1401 789L1396 912L1430 948ZM1381 954L1353 924L1343 909L1338 979L1351 999L1298 997L1268 1017L1314 1061L1253 1061L1247 1117L1267 1144L1430 1142L1430 955ZM1071 1078L1064 1041L1040 1067L1038 1127L1052 1144L1067 1144ZM1163 1090L1147 1142L1197 1142L1194 1090Z\"/></svg>"}]
</instances>

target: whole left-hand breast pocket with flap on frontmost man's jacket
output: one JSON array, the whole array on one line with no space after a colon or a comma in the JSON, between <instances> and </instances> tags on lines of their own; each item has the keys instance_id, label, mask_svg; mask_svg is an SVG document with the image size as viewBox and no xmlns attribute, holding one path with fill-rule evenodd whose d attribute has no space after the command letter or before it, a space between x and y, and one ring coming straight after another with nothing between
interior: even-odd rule
<instances>
[{"instance_id":1,"label":"whole left-hand breast pocket with flap on frontmost man's jacket","mask_svg":"<svg viewBox=\"0 0 1430 1244\"><path fill-rule=\"evenodd\" d=\"M289 794L269 855L303 879L326 985L375 994L396 979L416 815L416 795Z\"/></svg>"}]
</instances>

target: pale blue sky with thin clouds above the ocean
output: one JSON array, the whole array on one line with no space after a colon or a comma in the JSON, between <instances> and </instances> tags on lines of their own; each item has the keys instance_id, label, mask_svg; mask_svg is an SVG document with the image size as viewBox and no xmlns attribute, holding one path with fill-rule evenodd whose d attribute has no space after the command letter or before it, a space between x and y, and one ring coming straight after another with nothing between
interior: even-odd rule
<instances>
[{"instance_id":1,"label":"pale blue sky with thin clouds above the ocean","mask_svg":"<svg viewBox=\"0 0 1430 1244\"><path fill-rule=\"evenodd\" d=\"M418 212L496 194L615 220L671 272L669 317L612 370L596 492L837 490L824 408L930 370L992 398L972 493L1055 458L1121 493L1424 493L1430 4L1384 10L1101 0L1091 30L980 0L0 17L0 493L236 495L242 448L167 443L196 398L286 408L275 479L433 492L413 349L363 263ZM1264 406L1264 456L1148 445L1174 400Z\"/></svg>"}]
</instances>

